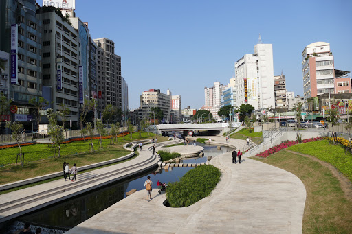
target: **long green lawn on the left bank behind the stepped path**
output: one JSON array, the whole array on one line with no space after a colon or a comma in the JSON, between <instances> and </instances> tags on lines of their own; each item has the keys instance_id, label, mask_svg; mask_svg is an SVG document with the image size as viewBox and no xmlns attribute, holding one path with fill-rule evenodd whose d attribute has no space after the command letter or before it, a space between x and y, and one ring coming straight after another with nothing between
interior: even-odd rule
<instances>
[{"instance_id":1,"label":"long green lawn on the left bank behind the stepped path","mask_svg":"<svg viewBox=\"0 0 352 234\"><path fill-rule=\"evenodd\" d=\"M115 145L109 145L110 139L103 139L103 146L105 147L100 149L98 149L98 139L96 139L94 140L96 150L95 153L87 152L89 150L88 144L90 141L79 141L65 144L63 145L62 152L66 153L63 153L62 155L65 156L61 156L60 159L53 157L53 149L50 146L48 147L44 144L25 146L23 147L23 152L25 152L25 165L23 167L19 165L6 165L0 167L0 184L2 185L53 172L60 172L64 161L69 162L70 166L76 163L79 170L79 167L83 165L107 161L129 154L129 150L124 150L124 148L122 148L122 145L125 143L135 141L137 139L151 139L152 137L155 137L154 134L148 135L146 132L142 133L142 138L139 138L139 136L140 134L135 132L132 135L132 139L130 135L125 136L124 139L119 137L118 143L115 143ZM167 137L157 136L157 139L159 142L167 141ZM41 148L39 148L39 146ZM9 160L16 161L15 155L18 152L19 148L0 150L0 159L3 157L8 157Z\"/></svg>"}]
</instances>

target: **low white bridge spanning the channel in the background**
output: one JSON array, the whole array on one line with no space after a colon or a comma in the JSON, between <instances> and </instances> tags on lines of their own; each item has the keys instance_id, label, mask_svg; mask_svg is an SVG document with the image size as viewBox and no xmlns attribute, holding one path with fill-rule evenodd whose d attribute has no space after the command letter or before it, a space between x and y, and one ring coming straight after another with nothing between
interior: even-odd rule
<instances>
[{"instance_id":1,"label":"low white bridge spanning the channel in the background","mask_svg":"<svg viewBox=\"0 0 352 234\"><path fill-rule=\"evenodd\" d=\"M232 126L239 127L241 123L232 123ZM159 132L170 131L198 131L198 130L223 130L228 128L228 123L208 123L208 124L159 124Z\"/></svg>"}]
</instances>

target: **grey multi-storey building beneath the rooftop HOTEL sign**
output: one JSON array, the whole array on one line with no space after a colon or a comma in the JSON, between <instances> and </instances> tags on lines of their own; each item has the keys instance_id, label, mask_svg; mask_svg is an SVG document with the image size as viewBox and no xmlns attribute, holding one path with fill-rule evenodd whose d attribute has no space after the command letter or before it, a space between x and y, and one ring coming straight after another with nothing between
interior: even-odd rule
<instances>
[{"instance_id":1,"label":"grey multi-storey building beneath the rooftop HOTEL sign","mask_svg":"<svg viewBox=\"0 0 352 234\"><path fill-rule=\"evenodd\" d=\"M72 127L77 128L78 32L55 8L43 7L38 12L43 21L43 95L47 90L53 110L60 110L60 104L69 108L67 121L72 120Z\"/></svg>"}]
</instances>

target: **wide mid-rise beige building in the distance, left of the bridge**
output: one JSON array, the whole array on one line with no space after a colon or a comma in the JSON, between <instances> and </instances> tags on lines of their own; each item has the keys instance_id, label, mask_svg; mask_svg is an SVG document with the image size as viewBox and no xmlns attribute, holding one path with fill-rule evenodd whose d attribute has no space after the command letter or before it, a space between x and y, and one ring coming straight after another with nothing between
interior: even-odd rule
<instances>
[{"instance_id":1,"label":"wide mid-rise beige building in the distance, left of the bridge","mask_svg":"<svg viewBox=\"0 0 352 234\"><path fill-rule=\"evenodd\" d=\"M149 119L152 107L159 107L164 113L164 121L170 120L171 115L171 92L161 93L160 89L149 89L140 96L140 108L143 118ZM163 119L159 119L160 122Z\"/></svg>"}]
</instances>

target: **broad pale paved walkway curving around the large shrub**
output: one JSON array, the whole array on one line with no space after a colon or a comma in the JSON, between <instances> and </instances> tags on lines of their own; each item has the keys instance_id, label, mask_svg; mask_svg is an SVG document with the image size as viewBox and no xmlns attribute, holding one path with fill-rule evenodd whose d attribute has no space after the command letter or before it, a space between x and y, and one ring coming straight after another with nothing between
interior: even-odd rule
<instances>
[{"instance_id":1,"label":"broad pale paved walkway curving around the large shrub","mask_svg":"<svg viewBox=\"0 0 352 234\"><path fill-rule=\"evenodd\" d=\"M210 161L221 169L221 180L210 196L190 207L165 207L166 195L155 187L151 202L145 191L137 191L67 233L302 233L303 183L246 157L241 164L231 161L231 152Z\"/></svg>"}]
</instances>

